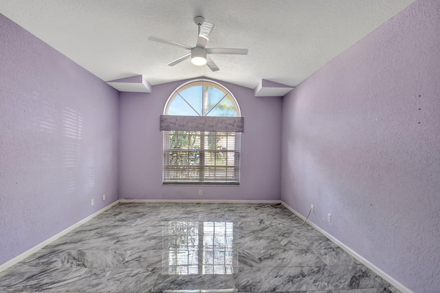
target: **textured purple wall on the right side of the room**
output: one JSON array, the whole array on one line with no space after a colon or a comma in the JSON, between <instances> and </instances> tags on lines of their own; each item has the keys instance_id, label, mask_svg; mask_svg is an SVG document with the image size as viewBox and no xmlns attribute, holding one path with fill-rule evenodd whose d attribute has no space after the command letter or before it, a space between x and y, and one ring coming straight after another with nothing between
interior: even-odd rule
<instances>
[{"instance_id":1,"label":"textured purple wall on the right side of the room","mask_svg":"<svg viewBox=\"0 0 440 293\"><path fill-rule=\"evenodd\" d=\"M282 150L284 202L314 204L320 228L439 292L440 1L416 1L288 94Z\"/></svg>"}]
</instances>

